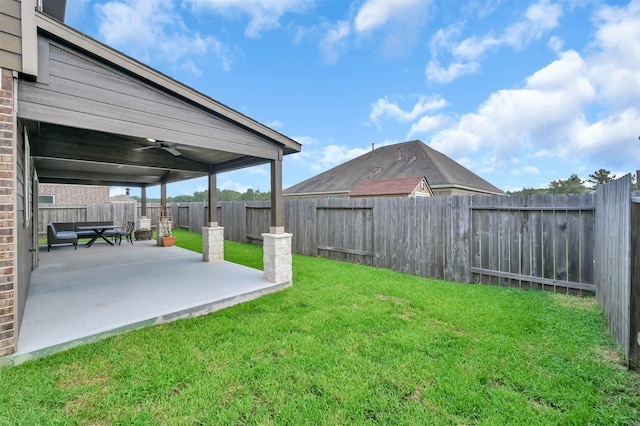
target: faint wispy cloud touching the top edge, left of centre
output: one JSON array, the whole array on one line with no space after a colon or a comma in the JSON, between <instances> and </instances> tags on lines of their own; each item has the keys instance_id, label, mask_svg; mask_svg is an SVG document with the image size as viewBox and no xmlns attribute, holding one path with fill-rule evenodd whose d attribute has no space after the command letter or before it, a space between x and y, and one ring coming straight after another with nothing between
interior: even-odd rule
<instances>
[{"instance_id":1,"label":"faint wispy cloud touching the top edge, left of centre","mask_svg":"<svg viewBox=\"0 0 640 426\"><path fill-rule=\"evenodd\" d=\"M287 13L307 10L313 0L188 0L196 9L213 9L225 15L248 15L244 34L259 38L260 34L280 27L280 19Z\"/></svg>"}]
</instances>

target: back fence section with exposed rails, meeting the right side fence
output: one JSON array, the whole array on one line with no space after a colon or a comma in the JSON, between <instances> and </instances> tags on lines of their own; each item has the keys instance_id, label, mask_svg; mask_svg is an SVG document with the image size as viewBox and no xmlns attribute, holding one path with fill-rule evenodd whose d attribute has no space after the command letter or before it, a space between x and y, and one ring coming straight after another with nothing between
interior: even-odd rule
<instances>
[{"instance_id":1,"label":"back fence section with exposed rails, meeting the right side fence","mask_svg":"<svg viewBox=\"0 0 640 426\"><path fill-rule=\"evenodd\" d=\"M592 194L472 201L473 282L595 290Z\"/></svg>"}]
</instances>

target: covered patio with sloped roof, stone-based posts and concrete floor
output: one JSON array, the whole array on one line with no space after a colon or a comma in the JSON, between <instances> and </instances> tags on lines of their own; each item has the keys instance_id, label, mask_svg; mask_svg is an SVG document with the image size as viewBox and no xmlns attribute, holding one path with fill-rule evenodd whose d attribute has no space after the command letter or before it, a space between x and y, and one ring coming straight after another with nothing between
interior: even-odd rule
<instances>
[{"instance_id":1,"label":"covered patio with sloped roof, stone-based posts and concrete floor","mask_svg":"<svg viewBox=\"0 0 640 426\"><path fill-rule=\"evenodd\" d=\"M0 356L47 353L291 285L282 161L301 145L69 27L65 8L65 0L0 3L16 47L0 47L0 142L12 161L0 182L11 224L0 236ZM225 224L214 207L217 175L256 165L270 169L264 271L223 261ZM140 217L125 220L160 231L171 224L149 223L147 189L160 186L166 208L168 184L201 177L209 195L202 255L155 241L39 250L40 183L140 188Z\"/></svg>"}]
</instances>

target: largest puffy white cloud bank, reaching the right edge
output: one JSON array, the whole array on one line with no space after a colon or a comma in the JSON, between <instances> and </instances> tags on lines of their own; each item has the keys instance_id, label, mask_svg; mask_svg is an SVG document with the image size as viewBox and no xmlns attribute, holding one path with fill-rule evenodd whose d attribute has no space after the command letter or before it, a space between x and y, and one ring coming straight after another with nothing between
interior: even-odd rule
<instances>
[{"instance_id":1,"label":"largest puffy white cloud bank, reaching the right edge","mask_svg":"<svg viewBox=\"0 0 640 426\"><path fill-rule=\"evenodd\" d=\"M636 167L640 0L603 6L594 22L594 41L584 56L560 52L523 88L491 94L476 112L435 135L431 146L454 158L472 153L486 170L504 169L514 158L536 162L518 169L529 174L551 160L588 158L605 168ZM594 108L598 114L590 117L587 111Z\"/></svg>"}]
</instances>

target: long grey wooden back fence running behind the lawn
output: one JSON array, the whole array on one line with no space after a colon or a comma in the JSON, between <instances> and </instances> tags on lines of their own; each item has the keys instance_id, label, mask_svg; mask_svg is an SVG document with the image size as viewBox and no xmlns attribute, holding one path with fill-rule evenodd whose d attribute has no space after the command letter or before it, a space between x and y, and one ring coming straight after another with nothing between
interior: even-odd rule
<instances>
[{"instance_id":1,"label":"long grey wooden back fence running behind the lawn","mask_svg":"<svg viewBox=\"0 0 640 426\"><path fill-rule=\"evenodd\" d=\"M225 238L262 240L269 202L220 203ZM594 195L285 200L294 253L464 283L594 291Z\"/></svg>"}]
</instances>

